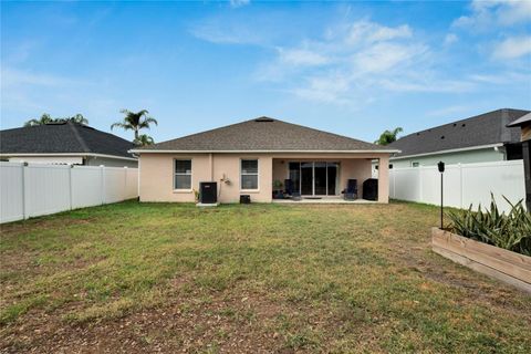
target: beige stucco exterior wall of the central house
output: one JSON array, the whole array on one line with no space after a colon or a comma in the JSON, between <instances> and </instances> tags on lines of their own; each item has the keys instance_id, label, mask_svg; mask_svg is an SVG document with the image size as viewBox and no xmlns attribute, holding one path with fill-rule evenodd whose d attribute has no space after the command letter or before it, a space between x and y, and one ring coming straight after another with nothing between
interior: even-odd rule
<instances>
[{"instance_id":1,"label":"beige stucco exterior wall of the central house","mask_svg":"<svg viewBox=\"0 0 531 354\"><path fill-rule=\"evenodd\" d=\"M288 176L288 160L340 162L340 187L344 189L348 178L356 178L360 186L365 179L371 178L371 159L381 157L388 158L388 154L312 154L309 156L308 154L143 153L139 160L139 195L142 201L194 202L194 189L199 190L199 183L214 180L218 183L218 200L220 202L238 202L240 195L250 195L252 201L270 202L272 200L273 180L283 180ZM176 158L191 159L192 189L190 190L174 190L174 159ZM240 160L242 158L258 159L258 190L240 190ZM282 160L284 164L282 164ZM275 168L273 168L273 165ZM382 178L385 184L378 186L382 195L379 201L387 202L387 176Z\"/></svg>"}]
</instances>

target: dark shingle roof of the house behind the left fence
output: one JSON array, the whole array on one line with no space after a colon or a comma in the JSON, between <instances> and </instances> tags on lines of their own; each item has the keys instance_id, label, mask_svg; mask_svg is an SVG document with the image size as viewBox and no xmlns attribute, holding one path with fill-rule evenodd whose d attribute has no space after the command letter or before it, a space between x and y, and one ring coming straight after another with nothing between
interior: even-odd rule
<instances>
[{"instance_id":1,"label":"dark shingle roof of the house behind the left fence","mask_svg":"<svg viewBox=\"0 0 531 354\"><path fill-rule=\"evenodd\" d=\"M132 142L90 126L61 122L0 131L0 153L17 154L102 154L133 157Z\"/></svg>"}]
</instances>

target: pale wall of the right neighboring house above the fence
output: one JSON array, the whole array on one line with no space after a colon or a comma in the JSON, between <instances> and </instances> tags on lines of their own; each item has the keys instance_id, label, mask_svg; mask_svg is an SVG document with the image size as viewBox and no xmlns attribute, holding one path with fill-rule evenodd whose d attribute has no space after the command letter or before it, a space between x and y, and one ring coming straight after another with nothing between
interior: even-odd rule
<instances>
[{"instance_id":1,"label":"pale wall of the right neighboring house above the fence","mask_svg":"<svg viewBox=\"0 0 531 354\"><path fill-rule=\"evenodd\" d=\"M434 154L419 157L410 157L404 159L391 159L393 168L412 167L412 163L419 163L420 166L435 166L442 160L447 165L455 164L476 164L476 163L491 163L502 162L506 159L504 150L502 148L494 149L485 148L478 150L468 150L450 154Z\"/></svg>"}]
</instances>

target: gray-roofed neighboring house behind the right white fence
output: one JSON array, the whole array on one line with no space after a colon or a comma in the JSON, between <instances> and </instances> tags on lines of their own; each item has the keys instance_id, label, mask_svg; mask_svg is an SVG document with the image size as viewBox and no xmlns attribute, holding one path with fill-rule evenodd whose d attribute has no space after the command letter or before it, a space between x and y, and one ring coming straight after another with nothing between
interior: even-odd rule
<instances>
[{"instance_id":1,"label":"gray-roofed neighboring house behind the right white fence","mask_svg":"<svg viewBox=\"0 0 531 354\"><path fill-rule=\"evenodd\" d=\"M528 113L497 110L406 135L387 145L402 152L391 157L392 167L521 159L520 129L507 125Z\"/></svg>"}]
</instances>

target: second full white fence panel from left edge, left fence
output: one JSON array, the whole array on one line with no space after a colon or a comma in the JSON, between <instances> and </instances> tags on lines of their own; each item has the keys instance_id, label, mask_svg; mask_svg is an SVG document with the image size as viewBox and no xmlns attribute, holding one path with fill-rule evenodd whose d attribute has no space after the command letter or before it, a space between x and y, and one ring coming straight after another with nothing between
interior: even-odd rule
<instances>
[{"instance_id":1,"label":"second full white fence panel from left edge, left fence","mask_svg":"<svg viewBox=\"0 0 531 354\"><path fill-rule=\"evenodd\" d=\"M27 217L70 209L70 166L30 164L24 173Z\"/></svg>"}]
</instances>

